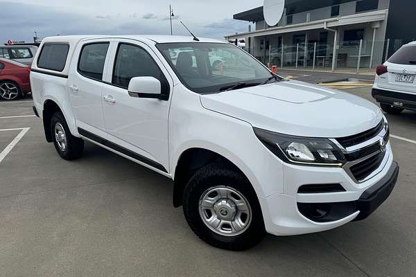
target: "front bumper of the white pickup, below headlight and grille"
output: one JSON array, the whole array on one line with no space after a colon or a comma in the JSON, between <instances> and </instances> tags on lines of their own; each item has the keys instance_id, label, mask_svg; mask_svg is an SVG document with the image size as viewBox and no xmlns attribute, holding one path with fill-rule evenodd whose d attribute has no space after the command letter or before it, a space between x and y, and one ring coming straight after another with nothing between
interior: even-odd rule
<instances>
[{"instance_id":1,"label":"front bumper of the white pickup, below headlight and grille","mask_svg":"<svg viewBox=\"0 0 416 277\"><path fill-rule=\"evenodd\" d=\"M390 143L377 170L374 177L358 184L343 168L285 164L284 193L259 197L266 230L274 235L298 235L365 219L388 198L397 181L399 166L393 161ZM299 193L305 184L340 184L345 191ZM324 213L315 217L316 211Z\"/></svg>"}]
</instances>

